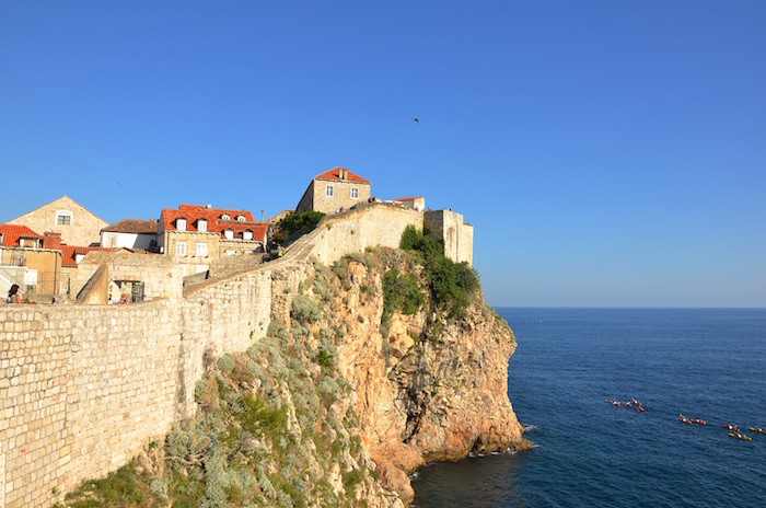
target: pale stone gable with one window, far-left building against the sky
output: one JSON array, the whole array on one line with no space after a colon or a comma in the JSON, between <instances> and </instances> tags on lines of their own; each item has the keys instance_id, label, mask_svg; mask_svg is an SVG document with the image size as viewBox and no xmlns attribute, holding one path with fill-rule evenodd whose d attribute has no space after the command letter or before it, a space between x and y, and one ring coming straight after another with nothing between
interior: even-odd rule
<instances>
[{"instance_id":1,"label":"pale stone gable with one window, far-left building against the sky","mask_svg":"<svg viewBox=\"0 0 766 508\"><path fill-rule=\"evenodd\" d=\"M34 231L54 231L61 234L65 245L94 245L101 241L106 221L76 203L69 196L35 208L28 213L9 220L9 224L26 226Z\"/></svg>"}]
</instances>

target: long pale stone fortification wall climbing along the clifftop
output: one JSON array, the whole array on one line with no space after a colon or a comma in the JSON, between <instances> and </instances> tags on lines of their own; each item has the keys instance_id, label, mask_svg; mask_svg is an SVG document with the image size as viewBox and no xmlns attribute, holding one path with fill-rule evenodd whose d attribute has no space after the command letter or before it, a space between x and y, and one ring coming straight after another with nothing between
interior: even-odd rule
<instances>
[{"instance_id":1,"label":"long pale stone fortification wall climbing along the clifftop","mask_svg":"<svg viewBox=\"0 0 766 508\"><path fill-rule=\"evenodd\" d=\"M158 276L177 288L144 303L0 307L0 508L49 507L127 463L194 415L206 357L245 350L272 311L289 318L306 261L396 247L423 217L383 204L328 216L281 259L183 295L169 267Z\"/></svg>"}]
</instances>

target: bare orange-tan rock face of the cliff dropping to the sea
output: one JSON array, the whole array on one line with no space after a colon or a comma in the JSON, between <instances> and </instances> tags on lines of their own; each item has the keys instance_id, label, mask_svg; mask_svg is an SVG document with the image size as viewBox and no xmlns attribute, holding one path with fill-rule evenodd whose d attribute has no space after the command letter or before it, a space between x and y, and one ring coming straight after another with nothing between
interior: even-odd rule
<instances>
[{"instance_id":1,"label":"bare orange-tan rock face of the cliff dropping to the sea","mask_svg":"<svg viewBox=\"0 0 766 508\"><path fill-rule=\"evenodd\" d=\"M413 315L395 312L386 331L382 276L410 261L396 251L384 257L347 257L329 275L311 267L302 288L325 308L314 336L339 331L338 371L353 388L362 449L382 486L408 503L407 475L429 461L530 444L508 400L515 349L508 324L479 290L462 319L448 320L426 304ZM323 280L334 278L335 290L326 289Z\"/></svg>"}]
</instances>

